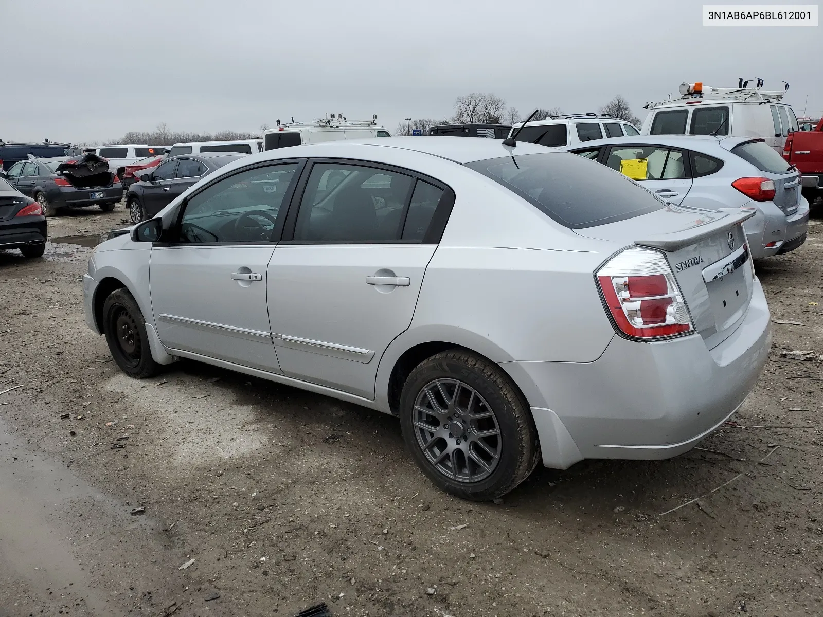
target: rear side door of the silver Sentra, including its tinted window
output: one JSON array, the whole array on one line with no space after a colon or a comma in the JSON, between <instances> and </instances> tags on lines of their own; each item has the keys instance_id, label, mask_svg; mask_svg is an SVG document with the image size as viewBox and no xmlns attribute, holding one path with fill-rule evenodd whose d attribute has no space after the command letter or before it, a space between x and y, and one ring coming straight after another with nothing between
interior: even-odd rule
<instances>
[{"instance_id":1,"label":"rear side door of the silver Sentra, including its tinted window","mask_svg":"<svg viewBox=\"0 0 823 617\"><path fill-rule=\"evenodd\" d=\"M277 358L286 375L373 399L380 357L412 322L453 193L364 161L314 160L304 176L268 267Z\"/></svg>"}]
</instances>

